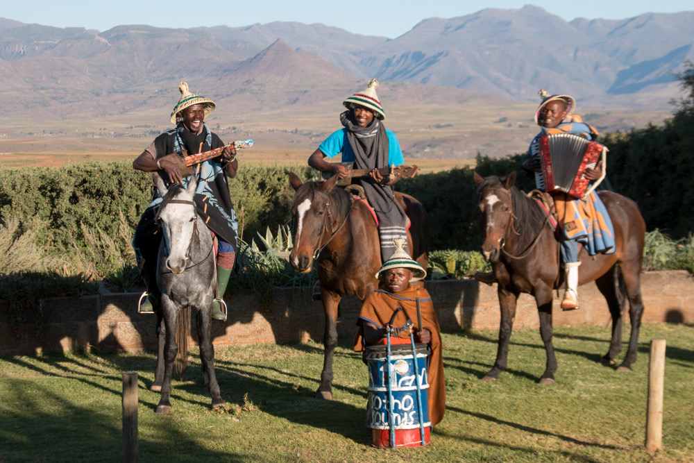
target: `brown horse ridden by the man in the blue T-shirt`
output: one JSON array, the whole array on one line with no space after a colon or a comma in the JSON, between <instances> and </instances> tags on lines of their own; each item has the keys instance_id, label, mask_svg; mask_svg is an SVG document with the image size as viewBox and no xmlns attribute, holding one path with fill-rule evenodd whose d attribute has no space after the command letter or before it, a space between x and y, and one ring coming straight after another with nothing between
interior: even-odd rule
<instances>
[{"instance_id":1,"label":"brown horse ridden by the man in the blue T-shirt","mask_svg":"<svg viewBox=\"0 0 694 463\"><path fill-rule=\"evenodd\" d=\"M311 271L314 263L318 268L325 310L325 359L316 397L327 399L332 399L332 354L337 346L340 298L347 294L364 301L378 287L375 273L381 267L378 230L371 211L350 193L336 188L336 181L337 176L332 176L323 183L301 183L296 175L289 174L289 183L296 190L291 203L294 249L289 262L302 273ZM412 222L407 230L410 255L427 268L429 217L412 196L398 192L395 196Z\"/></svg>"}]
</instances>

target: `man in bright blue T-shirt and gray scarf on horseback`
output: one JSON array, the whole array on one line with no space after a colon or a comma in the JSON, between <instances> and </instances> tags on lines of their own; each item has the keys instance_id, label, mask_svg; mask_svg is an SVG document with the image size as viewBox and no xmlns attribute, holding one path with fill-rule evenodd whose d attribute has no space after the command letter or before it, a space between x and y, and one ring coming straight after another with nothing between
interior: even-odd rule
<instances>
[{"instance_id":1,"label":"man in bright blue T-shirt and gray scarf on horseback","mask_svg":"<svg viewBox=\"0 0 694 463\"><path fill-rule=\"evenodd\" d=\"M343 101L347 110L341 113L340 122L344 128L326 138L310 156L308 164L319 171L346 178L349 176L348 169L324 159L332 159L342 153L342 162L354 162L357 169L372 169L369 177L354 181L364 189L366 199L378 218L381 261L384 262L395 251L393 239L407 236L407 216L391 190L391 185L398 178L382 176L378 169L403 165L405 159L395 134L383 126L382 121L386 116L376 88L378 81L372 78L366 90Z\"/></svg>"}]
</instances>

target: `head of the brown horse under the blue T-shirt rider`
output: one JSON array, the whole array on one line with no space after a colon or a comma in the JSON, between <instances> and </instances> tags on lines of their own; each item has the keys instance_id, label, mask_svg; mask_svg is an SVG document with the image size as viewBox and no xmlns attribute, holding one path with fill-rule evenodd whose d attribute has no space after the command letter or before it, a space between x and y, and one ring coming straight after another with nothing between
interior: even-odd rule
<instances>
[{"instance_id":1,"label":"head of the brown horse under the blue T-shirt rider","mask_svg":"<svg viewBox=\"0 0 694 463\"><path fill-rule=\"evenodd\" d=\"M298 176L289 174L289 184L296 190L291 203L294 248L289 254L289 263L300 273L311 271L330 233L338 226L333 193L339 190L335 190L335 183L337 176L325 182L302 183Z\"/></svg>"}]
</instances>

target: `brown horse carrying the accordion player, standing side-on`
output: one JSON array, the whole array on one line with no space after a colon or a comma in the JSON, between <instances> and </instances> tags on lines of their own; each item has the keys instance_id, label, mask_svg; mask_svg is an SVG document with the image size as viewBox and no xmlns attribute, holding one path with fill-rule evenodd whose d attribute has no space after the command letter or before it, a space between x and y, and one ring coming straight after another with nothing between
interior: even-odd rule
<instances>
[{"instance_id":1,"label":"brown horse carrying the accordion player, standing side-on","mask_svg":"<svg viewBox=\"0 0 694 463\"><path fill-rule=\"evenodd\" d=\"M540 335L545 344L547 364L541 384L555 381L557 359L552 346L552 289L559 286L559 242L548 220L548 213L534 199L514 186L516 172L506 178L482 178L475 172L480 193L480 225L482 253L491 262L498 282L501 326L494 366L483 380L498 378L506 369L511 328L516 315L516 300L523 292L532 294L540 318ZM641 326L641 261L645 224L634 201L613 192L600 192L614 226L615 252L589 256L580 246L579 285L595 281L612 316L612 339L609 351L602 357L605 364L614 364L621 351L622 314L617 278L621 278L629 299L632 332L629 348L618 371L631 371L636 361L638 328ZM616 273L617 272L617 273Z\"/></svg>"}]
</instances>

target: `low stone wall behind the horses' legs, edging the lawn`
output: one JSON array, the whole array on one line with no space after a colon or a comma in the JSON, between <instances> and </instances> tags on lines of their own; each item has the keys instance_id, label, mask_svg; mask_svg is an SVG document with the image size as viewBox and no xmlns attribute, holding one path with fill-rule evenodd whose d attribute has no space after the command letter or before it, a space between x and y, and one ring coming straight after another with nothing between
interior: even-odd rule
<instances>
[{"instance_id":1,"label":"low stone wall behind the horses' legs, edging the lawn","mask_svg":"<svg viewBox=\"0 0 694 463\"><path fill-rule=\"evenodd\" d=\"M496 286L475 280L428 281L441 327L498 330L500 311ZM694 323L694 279L686 271L643 273L641 289L644 323ZM137 313L138 294L102 291L94 296L62 297L40 301L44 321L37 333L36 314L26 314L22 326L10 316L6 301L0 301L0 356L31 355L42 351L69 351L96 346L104 350L138 351L154 348L155 316ZM323 308L312 301L309 290L277 288L267 308L251 292L228 294L226 323L213 322L214 344L255 344L323 339ZM555 293L555 326L599 325L610 322L607 303L594 284L579 288L581 308L562 312ZM343 298L337 328L341 337L354 334L360 303ZM523 294L518 299L514 328L538 327L534 299ZM193 331L193 343L196 335Z\"/></svg>"}]
</instances>

